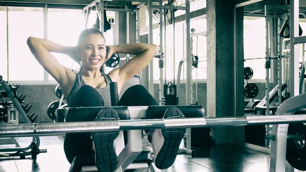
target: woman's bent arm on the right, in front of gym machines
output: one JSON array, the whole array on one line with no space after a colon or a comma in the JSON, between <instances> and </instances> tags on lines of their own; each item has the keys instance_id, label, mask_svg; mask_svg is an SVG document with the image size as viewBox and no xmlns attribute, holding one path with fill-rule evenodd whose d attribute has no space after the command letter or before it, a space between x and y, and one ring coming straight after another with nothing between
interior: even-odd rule
<instances>
[{"instance_id":1,"label":"woman's bent arm on the right, in front of gym machines","mask_svg":"<svg viewBox=\"0 0 306 172\"><path fill-rule=\"evenodd\" d=\"M157 46L154 44L134 43L108 46L107 49L105 60L109 59L114 53L135 55L123 66L109 73L112 80L123 85L127 80L142 71L150 63L156 54Z\"/></svg>"}]
</instances>

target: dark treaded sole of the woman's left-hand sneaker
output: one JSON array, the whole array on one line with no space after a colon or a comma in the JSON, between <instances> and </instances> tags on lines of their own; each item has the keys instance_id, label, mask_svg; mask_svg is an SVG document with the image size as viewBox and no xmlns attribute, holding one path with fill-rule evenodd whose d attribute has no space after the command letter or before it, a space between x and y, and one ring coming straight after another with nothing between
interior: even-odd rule
<instances>
[{"instance_id":1,"label":"dark treaded sole of the woman's left-hand sneaker","mask_svg":"<svg viewBox=\"0 0 306 172\"><path fill-rule=\"evenodd\" d=\"M103 108L95 121L119 120L117 112L110 107ZM114 141L119 132L92 132L94 143L95 164L99 172L113 172L118 165L118 157L114 148Z\"/></svg>"}]
</instances>

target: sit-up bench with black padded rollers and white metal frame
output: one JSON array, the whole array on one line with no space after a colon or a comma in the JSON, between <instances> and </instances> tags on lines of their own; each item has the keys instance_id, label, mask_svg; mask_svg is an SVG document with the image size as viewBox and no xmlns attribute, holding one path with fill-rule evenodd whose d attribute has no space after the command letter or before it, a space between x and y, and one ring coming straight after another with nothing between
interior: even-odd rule
<instances>
[{"instance_id":1,"label":"sit-up bench with black padded rollers and white metal frame","mask_svg":"<svg viewBox=\"0 0 306 172\"><path fill-rule=\"evenodd\" d=\"M128 119L153 119L162 118L170 106L136 106L136 107L113 107L117 111L121 120ZM176 106L185 117L204 117L204 108L202 106ZM89 116L87 118L94 120L96 115L104 107L79 107L58 109L58 114L64 115L67 121L73 121L75 115ZM78 117L78 118L79 118ZM118 168L115 172L122 172L126 169L150 168L152 172L160 172L153 162L153 154L149 149L143 150L142 130L128 130L127 143L124 144L122 133L115 141L115 149L118 155ZM90 157L90 158L88 158ZM81 169L81 172L97 171L94 166L94 155L88 157L76 157L72 166ZM91 161L89 161L89 159ZM84 162L86 160L86 162Z\"/></svg>"}]
</instances>

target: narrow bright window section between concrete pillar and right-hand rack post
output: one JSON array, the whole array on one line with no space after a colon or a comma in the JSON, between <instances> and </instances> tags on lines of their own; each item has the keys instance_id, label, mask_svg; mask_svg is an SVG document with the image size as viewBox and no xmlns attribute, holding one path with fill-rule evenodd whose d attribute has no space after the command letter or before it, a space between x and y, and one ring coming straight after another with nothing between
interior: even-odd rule
<instances>
[{"instance_id":1,"label":"narrow bright window section between concrete pillar and right-hand rack post","mask_svg":"<svg viewBox=\"0 0 306 172\"><path fill-rule=\"evenodd\" d=\"M266 23L265 18L244 18L244 55L245 67L253 69L252 79L265 79L266 57ZM250 59L263 57L262 59Z\"/></svg>"}]
</instances>

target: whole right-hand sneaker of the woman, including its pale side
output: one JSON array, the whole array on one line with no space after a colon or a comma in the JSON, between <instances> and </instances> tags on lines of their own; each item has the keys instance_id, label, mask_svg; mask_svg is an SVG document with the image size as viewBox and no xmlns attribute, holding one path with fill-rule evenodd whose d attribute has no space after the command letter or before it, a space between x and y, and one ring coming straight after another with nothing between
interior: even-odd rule
<instances>
[{"instance_id":1,"label":"whole right-hand sneaker of the woman, including its pale side","mask_svg":"<svg viewBox=\"0 0 306 172\"><path fill-rule=\"evenodd\" d=\"M175 106L165 112L163 118L184 118ZM152 134L154 162L158 169L167 169L174 163L186 128L155 129Z\"/></svg>"}]
</instances>

